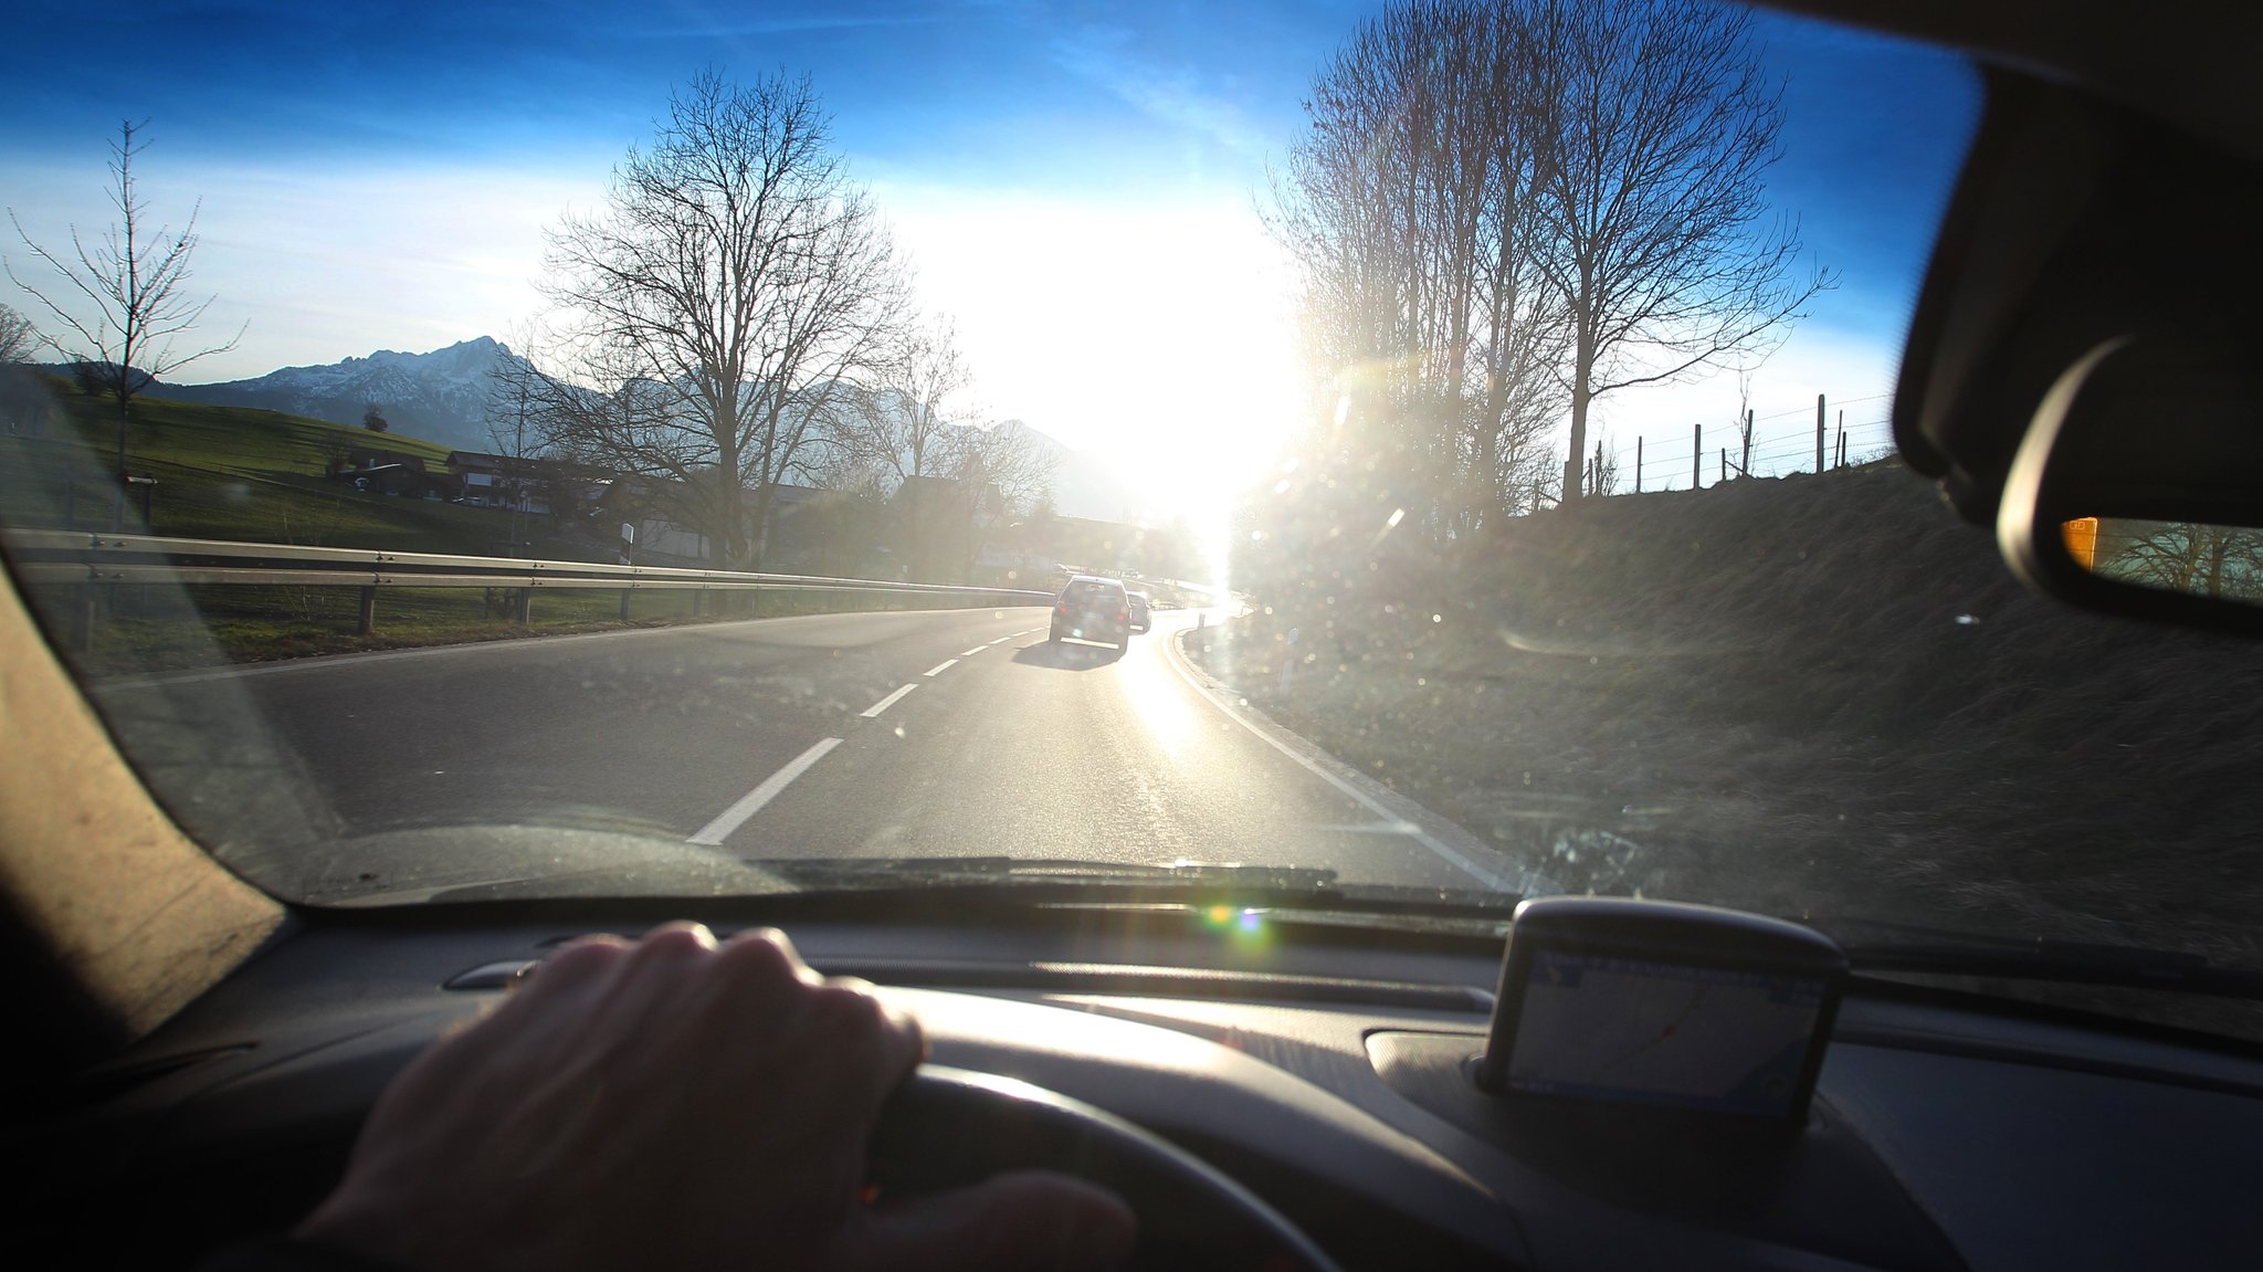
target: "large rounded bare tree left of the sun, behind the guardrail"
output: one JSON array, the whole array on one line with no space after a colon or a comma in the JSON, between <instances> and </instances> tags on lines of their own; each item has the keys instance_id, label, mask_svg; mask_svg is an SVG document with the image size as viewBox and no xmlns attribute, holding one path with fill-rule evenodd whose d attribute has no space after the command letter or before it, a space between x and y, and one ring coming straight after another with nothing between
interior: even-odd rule
<instances>
[{"instance_id":1,"label":"large rounded bare tree left of the sun, behind the guardrail","mask_svg":"<svg viewBox=\"0 0 2263 1272\"><path fill-rule=\"evenodd\" d=\"M679 482L711 555L760 564L772 493L824 466L907 294L810 81L695 77L545 267L561 340L525 385L545 444Z\"/></svg>"}]
</instances>

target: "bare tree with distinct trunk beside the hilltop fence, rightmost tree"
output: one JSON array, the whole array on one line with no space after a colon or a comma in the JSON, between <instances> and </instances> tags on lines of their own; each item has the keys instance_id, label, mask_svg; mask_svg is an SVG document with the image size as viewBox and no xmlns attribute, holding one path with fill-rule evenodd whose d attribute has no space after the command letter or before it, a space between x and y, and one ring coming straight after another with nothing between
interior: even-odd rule
<instances>
[{"instance_id":1,"label":"bare tree with distinct trunk beside the hilltop fence, rightmost tree","mask_svg":"<svg viewBox=\"0 0 2263 1272\"><path fill-rule=\"evenodd\" d=\"M1525 102L1539 113L1548 283L1571 315L1580 498L1598 396L1749 362L1831 285L1797 276L1799 226L1767 210L1783 91L1752 14L1711 0L1530 0Z\"/></svg>"}]
</instances>

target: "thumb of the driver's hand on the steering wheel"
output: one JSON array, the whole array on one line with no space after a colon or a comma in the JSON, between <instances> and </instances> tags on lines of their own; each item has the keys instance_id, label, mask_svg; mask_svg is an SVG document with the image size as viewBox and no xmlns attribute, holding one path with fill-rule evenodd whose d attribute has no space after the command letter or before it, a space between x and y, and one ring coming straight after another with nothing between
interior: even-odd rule
<instances>
[{"instance_id":1,"label":"thumb of the driver's hand on the steering wheel","mask_svg":"<svg viewBox=\"0 0 2263 1272\"><path fill-rule=\"evenodd\" d=\"M869 1211L840 1267L1048 1272L1120 1267L1138 1220L1116 1193L1043 1170Z\"/></svg>"}]
</instances>

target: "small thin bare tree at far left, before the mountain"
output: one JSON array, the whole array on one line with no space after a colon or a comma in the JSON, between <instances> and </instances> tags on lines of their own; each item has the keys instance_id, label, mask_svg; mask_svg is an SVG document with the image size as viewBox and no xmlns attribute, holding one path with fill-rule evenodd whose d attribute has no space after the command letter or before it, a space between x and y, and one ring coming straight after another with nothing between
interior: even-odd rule
<instances>
[{"instance_id":1,"label":"small thin bare tree at far left, before the mountain","mask_svg":"<svg viewBox=\"0 0 2263 1272\"><path fill-rule=\"evenodd\" d=\"M70 258L66 260L32 242L23 222L16 220L16 210L9 208L16 238L32 249L32 256L45 260L79 294L79 301L91 306L63 303L70 301L70 294L61 287L50 285L48 292L54 292L50 296L18 278L14 267L7 272L18 287L32 292L70 330L70 344L57 342L57 349L79 362L86 383L118 403L120 480L127 475L127 416L134 396L158 376L235 349L244 335L244 328L238 328L226 344L208 344L188 353L174 349L174 337L192 330L215 301L215 296L197 299L183 290L188 258L197 251L197 213L204 204L190 208L188 226L181 233L165 226L147 229L149 204L134 190L134 156L149 147L145 140L134 140L140 127L131 120L120 122L118 140L111 143L111 206L118 208L118 224L102 233L100 244L88 247L72 226Z\"/></svg>"}]
</instances>

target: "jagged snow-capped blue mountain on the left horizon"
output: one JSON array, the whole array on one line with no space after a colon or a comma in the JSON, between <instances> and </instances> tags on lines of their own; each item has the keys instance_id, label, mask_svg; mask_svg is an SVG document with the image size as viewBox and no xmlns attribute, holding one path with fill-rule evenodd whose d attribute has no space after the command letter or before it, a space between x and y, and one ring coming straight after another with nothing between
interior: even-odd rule
<instances>
[{"instance_id":1,"label":"jagged snow-capped blue mountain on the left horizon","mask_svg":"<svg viewBox=\"0 0 2263 1272\"><path fill-rule=\"evenodd\" d=\"M462 450L493 450L487 426L491 373L518 360L491 337L464 340L430 353L380 349L328 367L283 367L256 380L222 385L158 385L161 398L265 407L330 423L362 423L371 403L394 432Z\"/></svg>"}]
</instances>

